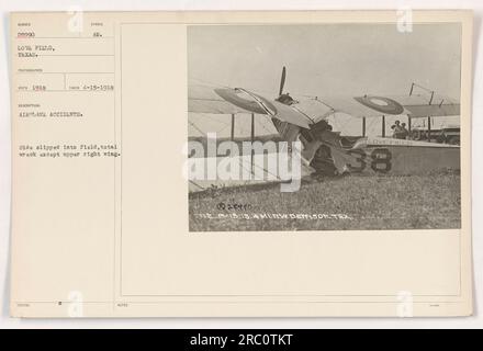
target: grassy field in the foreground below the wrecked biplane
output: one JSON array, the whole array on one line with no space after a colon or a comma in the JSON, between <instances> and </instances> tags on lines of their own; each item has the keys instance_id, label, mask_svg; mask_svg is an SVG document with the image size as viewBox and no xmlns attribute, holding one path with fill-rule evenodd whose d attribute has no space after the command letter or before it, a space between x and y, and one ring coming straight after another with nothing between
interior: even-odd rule
<instances>
[{"instance_id":1,"label":"grassy field in the foreground below the wrecked biplane","mask_svg":"<svg viewBox=\"0 0 483 351\"><path fill-rule=\"evenodd\" d=\"M190 230L460 228L460 176L450 172L310 179L295 193L279 184L213 190L190 194Z\"/></svg>"}]
</instances>

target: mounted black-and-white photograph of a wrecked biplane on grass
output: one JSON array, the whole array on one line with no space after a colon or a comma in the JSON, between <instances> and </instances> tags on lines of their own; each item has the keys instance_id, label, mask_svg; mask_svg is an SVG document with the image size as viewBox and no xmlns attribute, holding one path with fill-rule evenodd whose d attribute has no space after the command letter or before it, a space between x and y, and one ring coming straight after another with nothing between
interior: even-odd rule
<instances>
[{"instance_id":1,"label":"mounted black-and-white photograph of a wrecked biplane on grass","mask_svg":"<svg viewBox=\"0 0 483 351\"><path fill-rule=\"evenodd\" d=\"M188 26L190 231L461 227L461 25Z\"/></svg>"}]
</instances>

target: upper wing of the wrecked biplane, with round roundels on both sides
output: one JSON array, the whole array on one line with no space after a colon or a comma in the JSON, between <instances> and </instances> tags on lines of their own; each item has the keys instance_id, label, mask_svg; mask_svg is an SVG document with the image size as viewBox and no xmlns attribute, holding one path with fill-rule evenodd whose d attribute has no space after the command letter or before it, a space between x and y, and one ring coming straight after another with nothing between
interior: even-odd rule
<instances>
[{"instance_id":1,"label":"upper wing of the wrecked biplane, with round roundels on both sides","mask_svg":"<svg viewBox=\"0 0 483 351\"><path fill-rule=\"evenodd\" d=\"M323 97L301 100L292 105L266 99L246 89L189 86L188 111L199 113L257 113L303 128L326 116L342 112L355 117L408 115L411 117L459 115L459 102L442 95Z\"/></svg>"}]
</instances>

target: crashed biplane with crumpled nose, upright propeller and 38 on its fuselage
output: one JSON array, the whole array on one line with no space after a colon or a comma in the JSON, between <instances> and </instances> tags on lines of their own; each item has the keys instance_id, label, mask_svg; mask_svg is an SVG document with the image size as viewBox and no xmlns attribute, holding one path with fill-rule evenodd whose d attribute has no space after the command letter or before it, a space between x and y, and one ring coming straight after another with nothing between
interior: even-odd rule
<instances>
[{"instance_id":1,"label":"crashed biplane with crumpled nose, upright propeller and 38 on its fuselage","mask_svg":"<svg viewBox=\"0 0 483 351\"><path fill-rule=\"evenodd\" d=\"M188 111L192 113L226 114L232 116L232 138L236 115L251 114L251 141L255 138L255 115L270 118L280 138L302 143L305 174L319 173L389 173L417 174L441 169L460 169L460 147L385 136L386 116L406 115L411 133L414 118L427 118L428 134L433 116L460 115L460 103L448 97L415 93L412 84L406 95L312 97L294 100L283 92L287 69L283 67L279 94L268 99L244 88L216 88L189 84ZM361 121L361 136L347 138L333 131L327 118L345 113ZM366 118L381 117L381 136L368 137ZM428 138L429 139L429 138ZM242 161L240 162L247 162ZM252 163L252 158L251 158ZM254 167L252 165L242 165ZM228 182L192 183L191 191ZM239 183L236 183L239 184Z\"/></svg>"}]
</instances>

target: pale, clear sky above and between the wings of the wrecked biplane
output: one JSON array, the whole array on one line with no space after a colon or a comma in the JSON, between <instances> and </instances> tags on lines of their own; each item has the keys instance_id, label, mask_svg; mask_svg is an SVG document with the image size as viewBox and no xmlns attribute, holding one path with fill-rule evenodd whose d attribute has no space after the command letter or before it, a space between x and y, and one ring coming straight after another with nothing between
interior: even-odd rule
<instances>
[{"instance_id":1,"label":"pale, clear sky above and between the wings of the wrecked biplane","mask_svg":"<svg viewBox=\"0 0 483 351\"><path fill-rule=\"evenodd\" d=\"M285 66L284 91L292 95L407 94L416 82L459 100L460 55L461 29L450 23L417 24L411 33L394 24L188 27L190 81L243 87L266 98L277 97ZM193 122L205 129L214 118L226 124L223 116ZM387 118L387 129L392 122ZM334 123L345 134L361 125L347 116ZM379 121L368 121L368 127L369 135L381 134Z\"/></svg>"}]
</instances>

